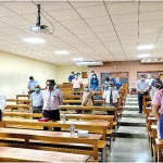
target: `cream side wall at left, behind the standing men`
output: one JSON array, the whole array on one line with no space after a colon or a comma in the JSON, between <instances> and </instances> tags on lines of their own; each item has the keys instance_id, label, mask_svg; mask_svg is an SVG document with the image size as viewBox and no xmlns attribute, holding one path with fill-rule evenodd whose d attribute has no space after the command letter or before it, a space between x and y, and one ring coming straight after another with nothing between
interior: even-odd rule
<instances>
[{"instance_id":1,"label":"cream side wall at left, behind the standing men","mask_svg":"<svg viewBox=\"0 0 163 163\"><path fill-rule=\"evenodd\" d=\"M0 52L0 91L7 98L26 93L29 76L34 76L45 87L49 78L58 82L57 70L55 65L47 62Z\"/></svg>"}]
</instances>

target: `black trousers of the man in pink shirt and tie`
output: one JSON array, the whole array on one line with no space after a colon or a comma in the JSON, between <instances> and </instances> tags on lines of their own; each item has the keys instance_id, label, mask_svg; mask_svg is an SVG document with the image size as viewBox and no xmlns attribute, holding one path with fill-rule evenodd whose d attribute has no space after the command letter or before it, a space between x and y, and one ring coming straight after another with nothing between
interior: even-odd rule
<instances>
[{"instance_id":1,"label":"black trousers of the man in pink shirt and tie","mask_svg":"<svg viewBox=\"0 0 163 163\"><path fill-rule=\"evenodd\" d=\"M43 117L49 117L52 121L60 121L60 110L46 111L43 110ZM43 130L48 130L48 127L43 127ZM61 131L61 127L53 127L53 130Z\"/></svg>"}]
</instances>

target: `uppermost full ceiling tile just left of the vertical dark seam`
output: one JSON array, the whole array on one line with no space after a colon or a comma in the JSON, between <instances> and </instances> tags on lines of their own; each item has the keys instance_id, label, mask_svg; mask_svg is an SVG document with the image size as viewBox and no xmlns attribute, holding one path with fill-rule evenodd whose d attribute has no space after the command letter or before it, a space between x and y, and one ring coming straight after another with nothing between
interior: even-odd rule
<instances>
[{"instance_id":1,"label":"uppermost full ceiling tile just left of the vertical dark seam","mask_svg":"<svg viewBox=\"0 0 163 163\"><path fill-rule=\"evenodd\" d=\"M111 15L138 12L138 2L110 3L106 7Z\"/></svg>"}]
</instances>

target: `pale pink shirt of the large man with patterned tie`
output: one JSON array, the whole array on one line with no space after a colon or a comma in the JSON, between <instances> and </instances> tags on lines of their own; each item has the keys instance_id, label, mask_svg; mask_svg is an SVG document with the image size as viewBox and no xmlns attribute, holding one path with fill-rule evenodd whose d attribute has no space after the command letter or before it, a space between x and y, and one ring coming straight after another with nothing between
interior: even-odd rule
<instances>
[{"instance_id":1,"label":"pale pink shirt of the large man with patterned tie","mask_svg":"<svg viewBox=\"0 0 163 163\"><path fill-rule=\"evenodd\" d=\"M45 90L42 99L43 110L48 110L48 101L50 101L50 110L58 110L63 104L63 95L60 89L53 89L52 91Z\"/></svg>"}]
</instances>

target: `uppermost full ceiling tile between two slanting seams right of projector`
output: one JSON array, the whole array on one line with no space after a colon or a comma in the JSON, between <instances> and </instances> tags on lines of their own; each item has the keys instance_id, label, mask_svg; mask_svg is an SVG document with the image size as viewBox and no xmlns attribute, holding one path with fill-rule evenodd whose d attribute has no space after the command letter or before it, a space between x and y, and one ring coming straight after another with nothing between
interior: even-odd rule
<instances>
[{"instance_id":1,"label":"uppermost full ceiling tile between two slanting seams right of projector","mask_svg":"<svg viewBox=\"0 0 163 163\"><path fill-rule=\"evenodd\" d=\"M97 5L97 7L89 7L89 8L78 8L76 10L82 15L82 17L84 17L84 18L101 17L101 16L106 16L108 15L104 5Z\"/></svg>"}]
</instances>

